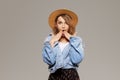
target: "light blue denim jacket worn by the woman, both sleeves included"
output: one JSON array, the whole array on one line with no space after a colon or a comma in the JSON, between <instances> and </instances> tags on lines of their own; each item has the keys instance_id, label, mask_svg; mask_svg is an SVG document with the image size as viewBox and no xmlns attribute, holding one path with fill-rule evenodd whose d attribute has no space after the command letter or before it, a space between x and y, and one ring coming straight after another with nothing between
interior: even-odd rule
<instances>
[{"instance_id":1,"label":"light blue denim jacket worn by the woman, both sleeves included","mask_svg":"<svg viewBox=\"0 0 120 80\"><path fill-rule=\"evenodd\" d=\"M49 34L45 39L42 50L43 61L48 64L50 72L54 73L59 68L78 68L84 57L82 39L78 36L70 37L69 44L61 52L59 41L55 42L53 48L51 47L49 43L51 37L52 35Z\"/></svg>"}]
</instances>

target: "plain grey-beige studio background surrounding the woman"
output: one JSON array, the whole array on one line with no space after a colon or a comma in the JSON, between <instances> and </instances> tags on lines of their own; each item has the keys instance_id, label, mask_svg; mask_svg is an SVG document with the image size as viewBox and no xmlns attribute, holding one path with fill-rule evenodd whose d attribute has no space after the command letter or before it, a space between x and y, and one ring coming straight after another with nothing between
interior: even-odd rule
<instances>
[{"instance_id":1,"label":"plain grey-beige studio background surrounding the woman","mask_svg":"<svg viewBox=\"0 0 120 80\"><path fill-rule=\"evenodd\" d=\"M59 8L79 17L81 80L120 80L119 0L0 0L0 80L47 80L41 51L51 32L48 16Z\"/></svg>"}]
</instances>

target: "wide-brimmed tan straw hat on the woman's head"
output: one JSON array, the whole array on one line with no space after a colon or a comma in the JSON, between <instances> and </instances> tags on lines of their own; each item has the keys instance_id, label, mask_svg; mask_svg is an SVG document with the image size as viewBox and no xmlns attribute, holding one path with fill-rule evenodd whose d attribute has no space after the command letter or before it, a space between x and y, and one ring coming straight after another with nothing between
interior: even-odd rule
<instances>
[{"instance_id":1,"label":"wide-brimmed tan straw hat on the woman's head","mask_svg":"<svg viewBox=\"0 0 120 80\"><path fill-rule=\"evenodd\" d=\"M54 28L55 18L60 14L69 15L72 18L73 26L74 27L76 26L76 24L78 22L78 17L74 12L72 12L70 10L67 10L67 9L58 9L58 10L53 11L49 16L48 22L49 22L49 25L50 25L51 28Z\"/></svg>"}]
</instances>

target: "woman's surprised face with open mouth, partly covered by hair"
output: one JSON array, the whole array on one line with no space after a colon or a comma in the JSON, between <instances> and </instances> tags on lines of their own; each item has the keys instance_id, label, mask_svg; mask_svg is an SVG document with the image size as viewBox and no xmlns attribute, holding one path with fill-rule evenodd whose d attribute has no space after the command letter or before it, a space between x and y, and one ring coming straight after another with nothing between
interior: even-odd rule
<instances>
[{"instance_id":1,"label":"woman's surprised face with open mouth, partly covered by hair","mask_svg":"<svg viewBox=\"0 0 120 80\"><path fill-rule=\"evenodd\" d=\"M69 25L66 24L66 21L60 16L57 20L57 28L59 31L68 31Z\"/></svg>"}]
</instances>

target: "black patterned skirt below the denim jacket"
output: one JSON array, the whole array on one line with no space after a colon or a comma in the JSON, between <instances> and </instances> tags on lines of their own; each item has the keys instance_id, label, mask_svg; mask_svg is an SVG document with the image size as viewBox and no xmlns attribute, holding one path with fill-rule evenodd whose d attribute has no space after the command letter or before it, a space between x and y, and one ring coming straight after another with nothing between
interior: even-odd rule
<instances>
[{"instance_id":1,"label":"black patterned skirt below the denim jacket","mask_svg":"<svg viewBox=\"0 0 120 80\"><path fill-rule=\"evenodd\" d=\"M76 69L58 69L49 75L48 80L80 80Z\"/></svg>"}]
</instances>

